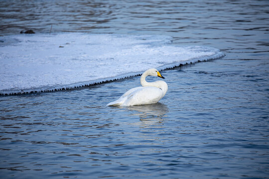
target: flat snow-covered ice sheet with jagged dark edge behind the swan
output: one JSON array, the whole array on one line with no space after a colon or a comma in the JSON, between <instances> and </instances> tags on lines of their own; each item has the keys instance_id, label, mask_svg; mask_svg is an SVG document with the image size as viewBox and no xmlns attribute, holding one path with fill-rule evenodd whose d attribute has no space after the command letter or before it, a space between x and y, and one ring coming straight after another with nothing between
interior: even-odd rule
<instances>
[{"instance_id":1,"label":"flat snow-covered ice sheet with jagged dark edge behind the swan","mask_svg":"<svg viewBox=\"0 0 269 179\"><path fill-rule=\"evenodd\" d=\"M0 37L0 93L74 88L223 56L162 35L19 34Z\"/></svg>"}]
</instances>

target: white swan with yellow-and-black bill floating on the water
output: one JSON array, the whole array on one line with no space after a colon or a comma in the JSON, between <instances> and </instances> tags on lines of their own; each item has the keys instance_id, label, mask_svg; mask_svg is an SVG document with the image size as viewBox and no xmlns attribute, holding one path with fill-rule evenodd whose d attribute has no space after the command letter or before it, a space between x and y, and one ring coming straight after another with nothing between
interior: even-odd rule
<instances>
[{"instance_id":1,"label":"white swan with yellow-and-black bill floating on the water","mask_svg":"<svg viewBox=\"0 0 269 179\"><path fill-rule=\"evenodd\" d=\"M146 82L145 78L147 76L160 77L164 79L164 77L162 77L156 69L148 69L140 78L142 87L129 89L119 99L108 103L107 106L133 106L158 102L167 92L168 86L162 80Z\"/></svg>"}]
</instances>

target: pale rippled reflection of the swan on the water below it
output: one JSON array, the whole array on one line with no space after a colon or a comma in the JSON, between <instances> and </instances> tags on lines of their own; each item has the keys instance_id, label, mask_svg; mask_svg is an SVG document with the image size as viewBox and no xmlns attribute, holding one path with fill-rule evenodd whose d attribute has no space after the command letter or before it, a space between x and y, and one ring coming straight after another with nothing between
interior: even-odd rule
<instances>
[{"instance_id":1,"label":"pale rippled reflection of the swan on the water below it","mask_svg":"<svg viewBox=\"0 0 269 179\"><path fill-rule=\"evenodd\" d=\"M160 102L147 105L117 106L117 107L133 111L134 113L131 113L129 115L139 116L140 121L146 125L161 123L166 118L166 113L168 112L167 106ZM142 125L141 122L139 125Z\"/></svg>"}]
</instances>

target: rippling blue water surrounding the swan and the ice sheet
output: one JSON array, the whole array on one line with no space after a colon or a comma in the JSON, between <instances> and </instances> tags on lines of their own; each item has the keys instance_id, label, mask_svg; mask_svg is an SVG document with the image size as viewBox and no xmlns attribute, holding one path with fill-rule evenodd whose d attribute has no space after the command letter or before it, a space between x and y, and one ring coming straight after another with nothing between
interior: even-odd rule
<instances>
[{"instance_id":1,"label":"rippling blue water surrounding the swan and the ice sheet","mask_svg":"<svg viewBox=\"0 0 269 179\"><path fill-rule=\"evenodd\" d=\"M0 33L165 34L221 49L162 71L159 103L107 107L139 77L0 97L2 178L269 177L268 1L1 1ZM150 81L154 78L149 78Z\"/></svg>"}]
</instances>

